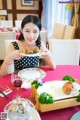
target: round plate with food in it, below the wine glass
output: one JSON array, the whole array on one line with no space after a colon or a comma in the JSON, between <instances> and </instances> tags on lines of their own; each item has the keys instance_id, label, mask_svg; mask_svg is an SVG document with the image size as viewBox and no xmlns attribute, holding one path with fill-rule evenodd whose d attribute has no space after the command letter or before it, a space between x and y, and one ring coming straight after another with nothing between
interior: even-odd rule
<instances>
[{"instance_id":1,"label":"round plate with food in it, below the wine glass","mask_svg":"<svg viewBox=\"0 0 80 120\"><path fill-rule=\"evenodd\" d=\"M4 112L8 113L7 120L41 120L33 103L24 98L17 98L10 101L5 106Z\"/></svg>"}]
</instances>

